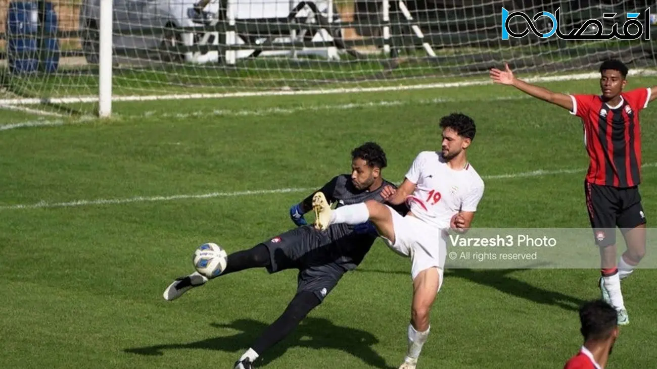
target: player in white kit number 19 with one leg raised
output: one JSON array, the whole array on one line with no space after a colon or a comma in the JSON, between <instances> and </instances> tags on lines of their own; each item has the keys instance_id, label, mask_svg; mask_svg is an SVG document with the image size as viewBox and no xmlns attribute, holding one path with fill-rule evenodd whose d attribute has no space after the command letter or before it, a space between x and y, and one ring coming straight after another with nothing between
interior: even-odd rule
<instances>
[{"instance_id":1,"label":"player in white kit number 19 with one leg raised","mask_svg":"<svg viewBox=\"0 0 657 369\"><path fill-rule=\"evenodd\" d=\"M407 202L410 211L405 217L380 202L333 210L321 192L313 197L315 227L324 230L334 223L357 225L369 220L392 250L411 258L411 323L399 369L415 369L428 337L429 313L442 286L448 230L466 231L484 195L484 181L466 159L476 132L474 121L455 113L441 118L440 127L442 150L420 152L401 186L385 191L389 204Z\"/></svg>"}]
</instances>

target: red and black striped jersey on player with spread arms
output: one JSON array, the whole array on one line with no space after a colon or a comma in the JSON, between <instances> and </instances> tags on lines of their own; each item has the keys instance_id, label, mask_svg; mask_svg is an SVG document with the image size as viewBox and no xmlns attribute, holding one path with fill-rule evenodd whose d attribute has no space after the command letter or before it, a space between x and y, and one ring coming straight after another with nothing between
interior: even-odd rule
<instances>
[{"instance_id":1,"label":"red and black striped jersey on player with spread arms","mask_svg":"<svg viewBox=\"0 0 657 369\"><path fill-rule=\"evenodd\" d=\"M639 111L648 106L650 89L621 93L618 106L599 95L570 95L574 114L581 118L589 158L586 181L627 188L641 183L641 127Z\"/></svg>"}]
</instances>

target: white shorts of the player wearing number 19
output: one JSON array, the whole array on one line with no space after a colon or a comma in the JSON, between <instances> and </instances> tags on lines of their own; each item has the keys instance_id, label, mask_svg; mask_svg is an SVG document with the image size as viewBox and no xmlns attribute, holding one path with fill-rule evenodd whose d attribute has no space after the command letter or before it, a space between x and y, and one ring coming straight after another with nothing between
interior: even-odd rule
<instances>
[{"instance_id":1,"label":"white shorts of the player wearing number 19","mask_svg":"<svg viewBox=\"0 0 657 369\"><path fill-rule=\"evenodd\" d=\"M395 232L395 242L381 236L384 242L399 255L411 258L411 278L415 280L417 274L431 267L438 268L440 282L438 290L443 284L443 270L445 269L445 255L447 243L445 232L432 227L417 217L399 215L392 207L387 206L392 214L392 227Z\"/></svg>"}]
</instances>

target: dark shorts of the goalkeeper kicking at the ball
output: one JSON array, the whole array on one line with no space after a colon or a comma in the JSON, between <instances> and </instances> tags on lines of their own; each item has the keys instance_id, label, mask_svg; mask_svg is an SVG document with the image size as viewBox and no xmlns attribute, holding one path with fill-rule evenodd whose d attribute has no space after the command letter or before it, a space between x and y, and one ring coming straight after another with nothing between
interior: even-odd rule
<instances>
[{"instance_id":1,"label":"dark shorts of the goalkeeper kicking at the ball","mask_svg":"<svg viewBox=\"0 0 657 369\"><path fill-rule=\"evenodd\" d=\"M288 230L262 244L267 246L271 257L267 271L298 269L297 293L315 293L319 301L324 301L345 272L334 263L340 256L336 255L337 250L325 247L331 244L331 240L312 225Z\"/></svg>"}]
</instances>

